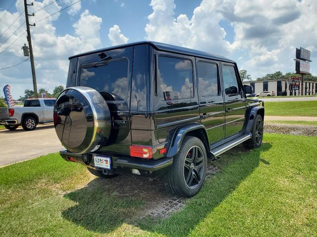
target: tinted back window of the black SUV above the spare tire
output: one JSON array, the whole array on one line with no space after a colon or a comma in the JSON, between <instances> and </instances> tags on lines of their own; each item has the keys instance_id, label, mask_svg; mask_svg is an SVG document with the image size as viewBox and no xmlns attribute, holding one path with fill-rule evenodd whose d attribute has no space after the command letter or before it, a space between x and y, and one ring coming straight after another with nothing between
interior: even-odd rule
<instances>
[{"instance_id":1,"label":"tinted back window of the black SUV above the spare tire","mask_svg":"<svg viewBox=\"0 0 317 237\"><path fill-rule=\"evenodd\" d=\"M128 60L124 58L97 67L83 67L79 84L98 92L111 93L115 100L125 100L128 95ZM107 98L106 100L113 100L109 95Z\"/></svg>"}]
</instances>

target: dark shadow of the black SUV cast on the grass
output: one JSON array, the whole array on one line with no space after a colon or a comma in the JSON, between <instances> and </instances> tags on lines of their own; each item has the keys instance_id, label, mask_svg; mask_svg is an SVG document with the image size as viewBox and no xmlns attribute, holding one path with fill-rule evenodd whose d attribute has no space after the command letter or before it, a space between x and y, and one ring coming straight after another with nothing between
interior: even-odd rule
<instances>
[{"instance_id":1,"label":"dark shadow of the black SUV cast on the grass","mask_svg":"<svg viewBox=\"0 0 317 237\"><path fill-rule=\"evenodd\" d=\"M209 170L214 172L209 172L203 189L192 198L169 194L159 179L138 176L98 178L87 187L64 196L76 204L62 216L98 233L109 233L128 223L166 236L187 236L260 162L269 165L260 155L270 148L269 143L252 151L239 146L225 153L222 159L209 162ZM175 210L169 215L170 204ZM158 206L167 215L152 215Z\"/></svg>"}]
</instances>

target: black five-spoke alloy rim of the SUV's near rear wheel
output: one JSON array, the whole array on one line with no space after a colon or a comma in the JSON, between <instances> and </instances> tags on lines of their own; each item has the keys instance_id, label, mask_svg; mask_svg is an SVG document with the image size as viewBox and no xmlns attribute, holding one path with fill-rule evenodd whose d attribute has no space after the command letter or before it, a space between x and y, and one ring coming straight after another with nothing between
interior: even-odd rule
<instances>
[{"instance_id":1,"label":"black five-spoke alloy rim of the SUV's near rear wheel","mask_svg":"<svg viewBox=\"0 0 317 237\"><path fill-rule=\"evenodd\" d=\"M184 180L188 188L196 188L202 181L205 169L205 157L202 149L193 146L184 160Z\"/></svg>"}]
</instances>

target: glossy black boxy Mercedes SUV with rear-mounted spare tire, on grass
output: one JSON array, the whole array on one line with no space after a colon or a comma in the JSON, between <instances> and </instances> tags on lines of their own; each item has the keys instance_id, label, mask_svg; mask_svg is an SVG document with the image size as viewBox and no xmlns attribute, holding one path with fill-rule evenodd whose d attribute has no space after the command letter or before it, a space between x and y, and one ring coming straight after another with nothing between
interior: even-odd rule
<instances>
[{"instance_id":1,"label":"glossy black boxy Mercedes SUV with rear-mounted spare tire, on grass","mask_svg":"<svg viewBox=\"0 0 317 237\"><path fill-rule=\"evenodd\" d=\"M234 61L143 41L69 58L54 107L60 155L94 175L163 178L174 194L202 187L207 158L261 146L264 104L247 99Z\"/></svg>"}]
</instances>

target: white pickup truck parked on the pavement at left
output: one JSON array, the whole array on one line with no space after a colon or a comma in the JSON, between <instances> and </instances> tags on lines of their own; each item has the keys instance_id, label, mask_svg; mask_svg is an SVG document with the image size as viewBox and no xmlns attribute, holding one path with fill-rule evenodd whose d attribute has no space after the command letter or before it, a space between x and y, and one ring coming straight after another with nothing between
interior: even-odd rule
<instances>
[{"instance_id":1,"label":"white pickup truck parked on the pavement at left","mask_svg":"<svg viewBox=\"0 0 317 237\"><path fill-rule=\"evenodd\" d=\"M55 101L54 98L28 99L23 107L1 107L0 124L9 130L15 130L19 125L26 131L34 130L39 123L53 122Z\"/></svg>"}]
</instances>

